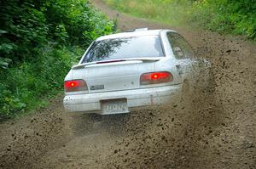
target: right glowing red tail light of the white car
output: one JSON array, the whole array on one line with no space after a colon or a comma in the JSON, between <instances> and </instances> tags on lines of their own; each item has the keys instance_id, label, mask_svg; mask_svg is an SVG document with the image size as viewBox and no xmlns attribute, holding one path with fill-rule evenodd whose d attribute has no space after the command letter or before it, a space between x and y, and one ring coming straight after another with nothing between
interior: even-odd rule
<instances>
[{"instance_id":1,"label":"right glowing red tail light of the white car","mask_svg":"<svg viewBox=\"0 0 256 169\"><path fill-rule=\"evenodd\" d=\"M140 79L141 85L159 84L172 81L172 74L168 71L144 73Z\"/></svg>"}]
</instances>

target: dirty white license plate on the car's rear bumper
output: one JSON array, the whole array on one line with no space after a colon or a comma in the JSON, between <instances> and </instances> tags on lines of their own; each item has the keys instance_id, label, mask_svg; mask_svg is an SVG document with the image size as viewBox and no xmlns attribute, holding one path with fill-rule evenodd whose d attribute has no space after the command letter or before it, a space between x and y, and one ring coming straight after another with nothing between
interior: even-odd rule
<instances>
[{"instance_id":1,"label":"dirty white license plate on the car's rear bumper","mask_svg":"<svg viewBox=\"0 0 256 169\"><path fill-rule=\"evenodd\" d=\"M102 113L103 114L119 114L128 113L126 99L113 99L102 101Z\"/></svg>"}]
</instances>

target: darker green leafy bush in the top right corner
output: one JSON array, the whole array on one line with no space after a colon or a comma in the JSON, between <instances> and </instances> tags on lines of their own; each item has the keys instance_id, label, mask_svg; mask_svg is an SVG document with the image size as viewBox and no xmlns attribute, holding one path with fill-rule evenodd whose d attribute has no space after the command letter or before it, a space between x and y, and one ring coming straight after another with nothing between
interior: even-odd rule
<instances>
[{"instance_id":1,"label":"darker green leafy bush in the top right corner","mask_svg":"<svg viewBox=\"0 0 256 169\"><path fill-rule=\"evenodd\" d=\"M241 34L256 40L254 0L196 1L191 16L192 22L209 30Z\"/></svg>"}]
</instances>

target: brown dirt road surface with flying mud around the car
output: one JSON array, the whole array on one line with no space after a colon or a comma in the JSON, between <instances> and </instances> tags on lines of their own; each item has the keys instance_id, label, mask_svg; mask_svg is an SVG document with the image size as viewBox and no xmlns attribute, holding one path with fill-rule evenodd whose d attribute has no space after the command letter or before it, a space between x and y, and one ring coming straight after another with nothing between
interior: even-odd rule
<instances>
[{"instance_id":1,"label":"brown dirt road surface with flying mud around the car","mask_svg":"<svg viewBox=\"0 0 256 169\"><path fill-rule=\"evenodd\" d=\"M0 124L0 168L256 168L256 46L139 20L93 4L117 18L119 29L170 28L212 63L207 89L188 100L91 117L63 110L62 96L17 121Z\"/></svg>"}]
</instances>

